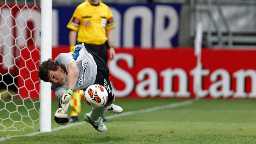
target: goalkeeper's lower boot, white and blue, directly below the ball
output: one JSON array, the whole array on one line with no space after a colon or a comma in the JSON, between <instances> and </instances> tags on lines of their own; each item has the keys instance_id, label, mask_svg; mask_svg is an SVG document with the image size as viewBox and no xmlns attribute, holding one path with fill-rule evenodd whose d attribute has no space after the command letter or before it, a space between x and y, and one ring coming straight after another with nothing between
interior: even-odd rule
<instances>
[{"instance_id":1,"label":"goalkeeper's lower boot, white and blue, directly below the ball","mask_svg":"<svg viewBox=\"0 0 256 144\"><path fill-rule=\"evenodd\" d=\"M91 114L87 113L84 115L84 121L90 123L95 130L98 130L100 132L105 132L107 130L106 126L102 121L102 117L98 121L91 121Z\"/></svg>"}]
</instances>

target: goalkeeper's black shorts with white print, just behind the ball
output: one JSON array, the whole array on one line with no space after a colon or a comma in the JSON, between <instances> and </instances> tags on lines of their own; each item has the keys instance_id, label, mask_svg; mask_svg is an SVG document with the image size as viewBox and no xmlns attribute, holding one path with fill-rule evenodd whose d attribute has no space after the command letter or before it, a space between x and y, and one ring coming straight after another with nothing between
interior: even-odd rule
<instances>
[{"instance_id":1,"label":"goalkeeper's black shorts with white print, just behind the ball","mask_svg":"<svg viewBox=\"0 0 256 144\"><path fill-rule=\"evenodd\" d=\"M97 75L94 84L100 84L104 86L108 93L107 102L112 102L112 100L114 99L114 93L109 81L109 69L107 67L107 64L96 53L92 51L88 51L88 53L90 53L93 56L93 59L97 65Z\"/></svg>"}]
</instances>

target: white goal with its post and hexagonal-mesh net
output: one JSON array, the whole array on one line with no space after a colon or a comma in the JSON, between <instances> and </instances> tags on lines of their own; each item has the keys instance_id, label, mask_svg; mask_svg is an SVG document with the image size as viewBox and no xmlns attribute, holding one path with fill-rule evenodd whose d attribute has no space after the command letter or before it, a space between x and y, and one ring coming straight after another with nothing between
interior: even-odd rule
<instances>
[{"instance_id":1,"label":"white goal with its post and hexagonal-mesh net","mask_svg":"<svg viewBox=\"0 0 256 144\"><path fill-rule=\"evenodd\" d=\"M51 131L51 85L37 77L51 23L52 0L0 1L0 131Z\"/></svg>"}]
</instances>

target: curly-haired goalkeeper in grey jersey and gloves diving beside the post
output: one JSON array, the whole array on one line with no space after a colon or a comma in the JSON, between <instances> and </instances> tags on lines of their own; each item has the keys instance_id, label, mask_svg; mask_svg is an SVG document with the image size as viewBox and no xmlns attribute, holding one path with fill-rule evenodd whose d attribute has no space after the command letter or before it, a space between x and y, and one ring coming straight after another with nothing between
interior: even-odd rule
<instances>
[{"instance_id":1,"label":"curly-haired goalkeeper in grey jersey and gloves diving beside the post","mask_svg":"<svg viewBox=\"0 0 256 144\"><path fill-rule=\"evenodd\" d=\"M109 69L107 64L96 53L87 51L84 44L78 44L74 52L61 53L54 61L50 58L44 60L38 67L38 77L44 82L50 82L51 90L58 98L58 109L54 120L60 125L67 125L69 119L66 113L69 101L74 91L85 91L92 84L100 84L108 88L108 100L103 107L92 108L85 114L84 119L95 130L105 132L106 126L102 121L102 115L107 110L112 113L120 113L123 109L114 105L115 97L109 81Z\"/></svg>"}]
</instances>

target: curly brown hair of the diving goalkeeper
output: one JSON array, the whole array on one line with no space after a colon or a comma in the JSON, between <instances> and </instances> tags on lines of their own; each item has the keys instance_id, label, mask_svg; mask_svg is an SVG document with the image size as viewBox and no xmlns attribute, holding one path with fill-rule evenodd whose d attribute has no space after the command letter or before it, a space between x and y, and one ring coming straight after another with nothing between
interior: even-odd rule
<instances>
[{"instance_id":1,"label":"curly brown hair of the diving goalkeeper","mask_svg":"<svg viewBox=\"0 0 256 144\"><path fill-rule=\"evenodd\" d=\"M58 69L58 63L56 61L52 61L51 58L48 60L44 60L38 66L38 77L44 81L49 82L49 71L56 71Z\"/></svg>"}]
</instances>

